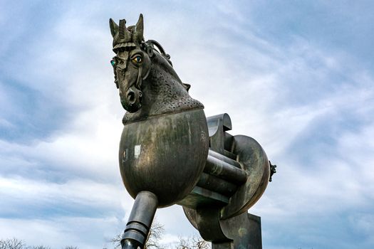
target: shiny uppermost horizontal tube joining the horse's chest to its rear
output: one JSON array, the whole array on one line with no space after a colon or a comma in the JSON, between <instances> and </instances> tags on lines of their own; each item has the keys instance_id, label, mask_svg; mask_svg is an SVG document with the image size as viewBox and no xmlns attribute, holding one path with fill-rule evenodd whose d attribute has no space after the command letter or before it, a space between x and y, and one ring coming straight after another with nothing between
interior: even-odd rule
<instances>
[{"instance_id":1,"label":"shiny uppermost horizontal tube joining the horse's chest to its rear","mask_svg":"<svg viewBox=\"0 0 374 249\"><path fill-rule=\"evenodd\" d=\"M232 166L232 164L228 164L226 161L212 157L210 154L208 154L204 172L231 181L236 185L246 182L246 171L238 169L236 166Z\"/></svg>"}]
</instances>

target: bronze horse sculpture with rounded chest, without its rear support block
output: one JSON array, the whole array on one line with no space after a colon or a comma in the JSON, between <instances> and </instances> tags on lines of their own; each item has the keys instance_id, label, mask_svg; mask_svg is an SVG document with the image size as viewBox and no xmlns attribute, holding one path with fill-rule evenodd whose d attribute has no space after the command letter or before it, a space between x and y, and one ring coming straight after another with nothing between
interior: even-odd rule
<instances>
[{"instance_id":1,"label":"bronze horse sculpture with rounded chest, without its rear support block","mask_svg":"<svg viewBox=\"0 0 374 249\"><path fill-rule=\"evenodd\" d=\"M206 118L157 41L143 38L143 17L126 27L110 19L115 85L128 112L120 173L135 203L121 245L143 248L157 208L178 203L203 238L233 240L224 221L264 192L271 167L259 144L231 136L228 115Z\"/></svg>"}]
</instances>

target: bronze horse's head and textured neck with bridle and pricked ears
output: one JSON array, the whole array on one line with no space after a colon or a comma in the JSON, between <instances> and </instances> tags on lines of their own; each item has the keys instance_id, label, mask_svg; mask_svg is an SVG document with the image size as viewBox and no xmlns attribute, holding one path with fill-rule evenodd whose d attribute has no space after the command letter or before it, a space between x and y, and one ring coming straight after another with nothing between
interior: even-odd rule
<instances>
[{"instance_id":1,"label":"bronze horse's head and textured neck with bridle and pricked ears","mask_svg":"<svg viewBox=\"0 0 374 249\"><path fill-rule=\"evenodd\" d=\"M126 27L125 19L118 25L110 18L109 24L116 54L110 63L120 102L128 111L124 124L154 115L203 108L200 102L189 97L190 86L182 83L175 73L170 55L160 43L145 41L142 14L135 26Z\"/></svg>"}]
</instances>

